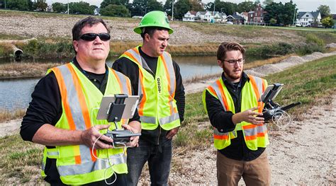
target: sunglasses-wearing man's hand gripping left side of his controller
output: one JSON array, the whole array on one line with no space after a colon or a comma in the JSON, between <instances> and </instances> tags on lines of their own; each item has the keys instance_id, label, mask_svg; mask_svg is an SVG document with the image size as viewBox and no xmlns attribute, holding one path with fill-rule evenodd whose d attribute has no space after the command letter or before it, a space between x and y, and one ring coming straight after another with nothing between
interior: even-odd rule
<instances>
[{"instance_id":1,"label":"sunglasses-wearing man's hand gripping left side of his controller","mask_svg":"<svg viewBox=\"0 0 336 186\"><path fill-rule=\"evenodd\" d=\"M82 144L84 144L86 146L89 146L90 148L92 148L94 146L94 149L111 149L111 148L113 148L113 145L106 143L106 142L112 143L113 139L99 133L99 130L108 129L108 127L110 127L109 124L98 124L94 127L91 127L89 129L84 130L81 134ZM99 136L101 136L101 137L99 138ZM99 138L99 140L97 140L98 138ZM94 144L95 141L96 141L96 144ZM106 142L103 142L103 141L106 141Z\"/></svg>"}]
</instances>

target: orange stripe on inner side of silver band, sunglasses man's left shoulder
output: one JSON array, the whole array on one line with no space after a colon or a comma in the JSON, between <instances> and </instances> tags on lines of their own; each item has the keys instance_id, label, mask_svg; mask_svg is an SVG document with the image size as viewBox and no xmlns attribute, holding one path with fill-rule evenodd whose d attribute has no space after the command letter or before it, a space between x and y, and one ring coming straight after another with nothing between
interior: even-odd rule
<instances>
[{"instance_id":1,"label":"orange stripe on inner side of silver band, sunglasses man's left shoulder","mask_svg":"<svg viewBox=\"0 0 336 186\"><path fill-rule=\"evenodd\" d=\"M69 69L70 73L72 74L72 80L74 81L74 88L76 89L78 98L79 98L79 105L81 105L82 109L82 114L84 117L84 122L85 122L85 127L86 129L89 129L91 127L91 120L90 120L90 115L89 115L89 109L87 108L86 105L86 100L85 96L82 90L82 86L79 83L79 78L72 68L71 64L67 64L67 68Z\"/></svg>"}]
</instances>

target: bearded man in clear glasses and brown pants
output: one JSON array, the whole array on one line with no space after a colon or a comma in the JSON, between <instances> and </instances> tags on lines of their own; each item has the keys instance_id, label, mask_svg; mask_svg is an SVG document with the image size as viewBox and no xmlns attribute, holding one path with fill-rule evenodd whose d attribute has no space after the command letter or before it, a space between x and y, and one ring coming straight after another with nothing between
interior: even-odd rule
<instances>
[{"instance_id":1,"label":"bearded man in clear glasses and brown pants","mask_svg":"<svg viewBox=\"0 0 336 186\"><path fill-rule=\"evenodd\" d=\"M218 47L223 74L203 92L203 105L213 126L218 185L269 185L271 171L266 146L267 127L260 95L267 81L245 74L245 49L237 42Z\"/></svg>"}]
</instances>

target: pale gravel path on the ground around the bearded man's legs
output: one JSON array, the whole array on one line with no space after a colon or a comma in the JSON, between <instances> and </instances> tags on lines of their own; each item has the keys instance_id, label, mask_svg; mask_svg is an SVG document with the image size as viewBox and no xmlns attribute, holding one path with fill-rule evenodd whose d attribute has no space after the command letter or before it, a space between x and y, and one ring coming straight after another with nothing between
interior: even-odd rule
<instances>
[{"instance_id":1,"label":"pale gravel path on the ground around the bearded man's legs","mask_svg":"<svg viewBox=\"0 0 336 186\"><path fill-rule=\"evenodd\" d=\"M271 131L267 147L271 185L336 185L336 95L332 104L308 110L302 122ZM280 135L279 135L280 134ZM171 185L216 185L215 148L198 149L174 157L179 172ZM143 185L148 182L142 180ZM240 180L239 185L245 185Z\"/></svg>"}]
</instances>

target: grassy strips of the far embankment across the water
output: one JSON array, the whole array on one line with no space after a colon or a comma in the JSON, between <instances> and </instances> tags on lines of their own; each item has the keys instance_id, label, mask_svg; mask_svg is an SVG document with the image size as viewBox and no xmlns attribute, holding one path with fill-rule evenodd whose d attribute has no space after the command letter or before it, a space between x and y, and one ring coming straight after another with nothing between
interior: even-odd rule
<instances>
[{"instance_id":1,"label":"grassy strips of the far embankment across the water","mask_svg":"<svg viewBox=\"0 0 336 186\"><path fill-rule=\"evenodd\" d=\"M0 11L0 17L4 18L15 18L18 16L28 16L29 18L49 18L52 21L52 18L55 21L60 19L79 19L84 18L86 15L67 15L67 14L59 14L59 13L37 13L37 12L23 12L23 11ZM116 18L116 17L107 17L101 16L106 21L115 21L120 23L138 23L138 19L134 18ZM72 23L72 21L69 21ZM24 23L23 23L24 24ZM117 27L119 26L116 23ZM282 48L276 47L276 45L285 45L285 47L290 47L291 50L284 50L287 52L296 52L297 54L307 54L311 51L319 51L320 48L306 46L309 44L305 42L305 38L308 35L313 35L314 37L318 37L323 40L325 43L336 42L336 32L335 30L327 30L327 29L310 29L305 28L301 30L293 30L292 28L275 28L275 27L262 27L262 26L254 26L254 25L221 25L221 24L211 24L211 23L185 23L174 21L172 22L172 27L188 27L192 30L195 30L197 33L203 33L203 35L223 35L232 37L232 40L235 38L243 38L246 42L242 43L251 48L255 48L257 50L251 50L252 54L255 55L282 55ZM42 26L43 28L43 26ZM70 28L69 28L70 29ZM124 29L123 27L119 29ZM23 30L24 31L24 30ZM28 42L28 44L23 44L22 42L16 42L15 44L24 51L26 57L33 58L60 58L60 57L72 57L72 41L71 37L68 36L38 36L33 35L33 33L25 33L22 35L6 35L0 34L0 40L21 40L28 39L31 37L36 37L37 41ZM267 38L278 38L279 41L284 43L276 43L272 44L271 42L265 43L261 42L262 40L267 40ZM302 43L293 43L293 40L300 38L303 40ZM262 39L262 40L260 40ZM185 45L170 45L168 47L168 51L173 55L203 55L203 54L215 54L218 44L221 41L213 41L213 42L197 42L195 44L188 44L191 41L186 41ZM111 55L120 55L125 50L130 47L134 47L138 45L139 42L135 41L121 41L121 40L112 40L111 41ZM265 46L267 45L267 46ZM269 52L266 48L273 48L275 46L276 49L279 50L276 52ZM259 47L261 47L259 49ZM308 49L307 49L308 47ZM263 52L264 51L264 52ZM11 46L5 43L0 43L0 57L11 57L12 54ZM282 52L284 53L284 52ZM286 53L290 54L290 53Z\"/></svg>"}]
</instances>

